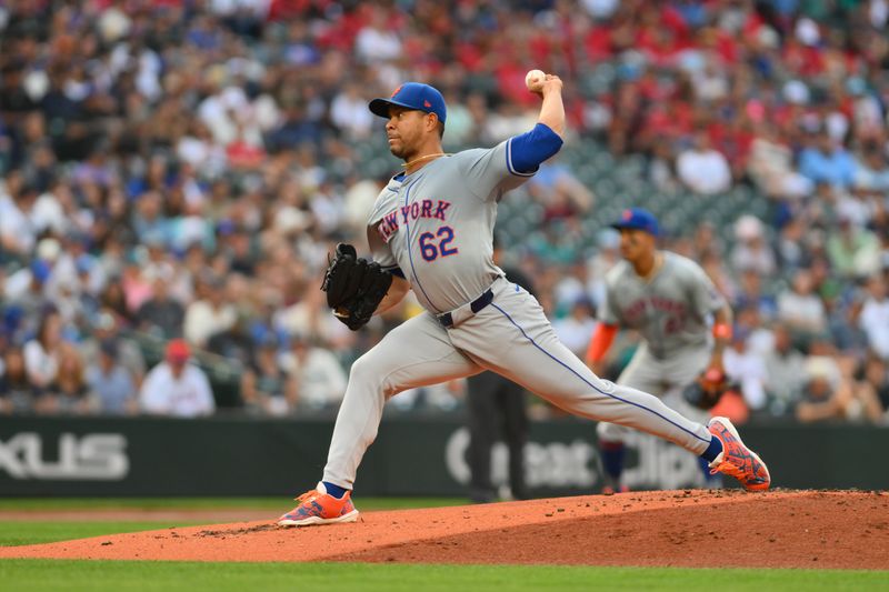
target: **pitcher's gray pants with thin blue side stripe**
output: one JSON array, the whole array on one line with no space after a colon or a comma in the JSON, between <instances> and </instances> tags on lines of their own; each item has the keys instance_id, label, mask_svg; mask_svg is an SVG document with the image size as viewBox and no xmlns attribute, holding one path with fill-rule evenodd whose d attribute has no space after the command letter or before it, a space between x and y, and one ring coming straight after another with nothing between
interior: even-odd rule
<instances>
[{"instance_id":1,"label":"pitcher's gray pants with thin blue side stripe","mask_svg":"<svg viewBox=\"0 0 889 592\"><path fill-rule=\"evenodd\" d=\"M493 301L455 327L446 329L431 313L419 314L352 364L324 481L352 489L390 397L482 370L502 374L576 415L641 430L695 454L707 450L711 437L705 425L657 397L593 374L559 342L543 309L526 290L502 278L491 288Z\"/></svg>"}]
</instances>

